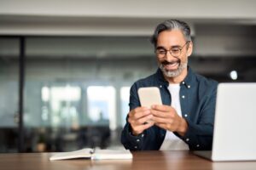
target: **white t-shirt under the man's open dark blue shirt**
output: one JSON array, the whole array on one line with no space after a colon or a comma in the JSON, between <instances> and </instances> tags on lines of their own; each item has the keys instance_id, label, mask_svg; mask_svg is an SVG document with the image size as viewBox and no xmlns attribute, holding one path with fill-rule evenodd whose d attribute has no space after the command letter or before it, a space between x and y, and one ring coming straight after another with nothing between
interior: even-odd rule
<instances>
[{"instance_id":1,"label":"white t-shirt under the man's open dark blue shirt","mask_svg":"<svg viewBox=\"0 0 256 170\"><path fill-rule=\"evenodd\" d=\"M172 96L172 107L177 111L177 115L182 116L179 100L180 85L169 84L168 90ZM189 145L182 139L179 139L174 133L167 130L166 137L160 147L160 150L189 150Z\"/></svg>"}]
</instances>

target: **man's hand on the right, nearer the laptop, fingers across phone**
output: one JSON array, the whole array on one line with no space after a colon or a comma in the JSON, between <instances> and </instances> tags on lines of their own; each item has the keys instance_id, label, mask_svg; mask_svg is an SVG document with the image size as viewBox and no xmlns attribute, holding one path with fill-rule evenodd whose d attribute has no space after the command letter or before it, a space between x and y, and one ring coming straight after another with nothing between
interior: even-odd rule
<instances>
[{"instance_id":1,"label":"man's hand on the right, nearer the laptop, fingers across phone","mask_svg":"<svg viewBox=\"0 0 256 170\"><path fill-rule=\"evenodd\" d=\"M152 120L158 127L177 132L183 136L188 129L188 123L183 117L177 115L177 111L169 105L153 105L151 113Z\"/></svg>"}]
</instances>

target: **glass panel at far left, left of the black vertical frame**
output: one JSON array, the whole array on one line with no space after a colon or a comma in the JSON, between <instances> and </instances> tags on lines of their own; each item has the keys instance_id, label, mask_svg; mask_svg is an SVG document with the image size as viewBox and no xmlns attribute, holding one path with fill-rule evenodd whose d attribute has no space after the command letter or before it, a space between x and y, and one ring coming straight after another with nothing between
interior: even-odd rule
<instances>
[{"instance_id":1,"label":"glass panel at far left, left of the black vertical frame","mask_svg":"<svg viewBox=\"0 0 256 170\"><path fill-rule=\"evenodd\" d=\"M19 39L0 37L0 152L16 152L19 120Z\"/></svg>"}]
</instances>

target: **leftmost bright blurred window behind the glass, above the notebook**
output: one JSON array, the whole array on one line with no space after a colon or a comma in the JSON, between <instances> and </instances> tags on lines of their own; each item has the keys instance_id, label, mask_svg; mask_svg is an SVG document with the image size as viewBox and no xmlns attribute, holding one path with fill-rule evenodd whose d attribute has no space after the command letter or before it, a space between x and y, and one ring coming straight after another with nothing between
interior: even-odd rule
<instances>
[{"instance_id":1,"label":"leftmost bright blurred window behind the glass, above the notebook","mask_svg":"<svg viewBox=\"0 0 256 170\"><path fill-rule=\"evenodd\" d=\"M42 88L43 125L51 127L79 127L79 103L81 88L67 85L65 87ZM51 113L51 114L49 114Z\"/></svg>"}]
</instances>

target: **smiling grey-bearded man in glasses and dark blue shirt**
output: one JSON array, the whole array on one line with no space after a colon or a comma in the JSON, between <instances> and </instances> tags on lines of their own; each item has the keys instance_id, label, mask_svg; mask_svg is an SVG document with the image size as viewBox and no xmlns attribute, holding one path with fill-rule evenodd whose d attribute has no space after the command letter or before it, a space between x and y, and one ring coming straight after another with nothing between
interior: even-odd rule
<instances>
[{"instance_id":1,"label":"smiling grey-bearded man in glasses and dark blue shirt","mask_svg":"<svg viewBox=\"0 0 256 170\"><path fill-rule=\"evenodd\" d=\"M189 26L166 20L151 42L159 69L131 87L122 144L129 150L211 150L218 83L188 66L193 51ZM160 88L163 105L142 107L137 90L143 87Z\"/></svg>"}]
</instances>

